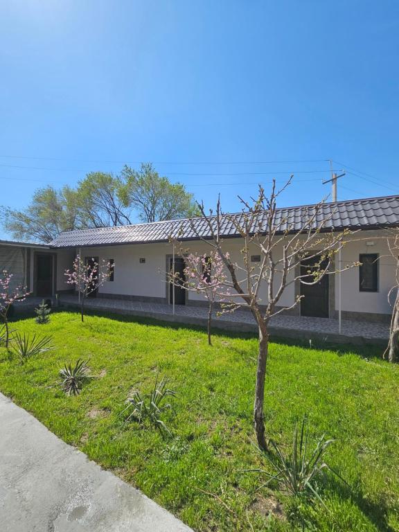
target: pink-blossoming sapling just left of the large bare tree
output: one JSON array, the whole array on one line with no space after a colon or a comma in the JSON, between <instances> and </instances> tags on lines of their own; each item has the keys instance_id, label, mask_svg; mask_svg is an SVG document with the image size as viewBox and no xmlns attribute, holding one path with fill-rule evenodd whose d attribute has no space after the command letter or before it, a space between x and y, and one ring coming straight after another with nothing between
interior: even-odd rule
<instances>
[{"instance_id":1,"label":"pink-blossoming sapling just left of the large bare tree","mask_svg":"<svg viewBox=\"0 0 399 532\"><path fill-rule=\"evenodd\" d=\"M222 259L215 251L208 255L188 254L184 256L185 281L175 280L183 285L186 290L202 294L208 301L208 344L211 346L211 320L215 301L223 302L229 296L227 275Z\"/></svg>"}]
</instances>

